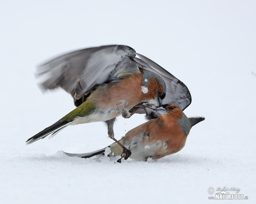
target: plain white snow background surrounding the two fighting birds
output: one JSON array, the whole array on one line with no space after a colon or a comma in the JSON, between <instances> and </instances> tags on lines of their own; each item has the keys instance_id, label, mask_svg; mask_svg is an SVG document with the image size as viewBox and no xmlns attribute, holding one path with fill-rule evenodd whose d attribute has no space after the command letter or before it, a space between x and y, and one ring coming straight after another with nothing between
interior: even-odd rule
<instances>
[{"instance_id":1,"label":"plain white snow background surrounding the two fighting birds","mask_svg":"<svg viewBox=\"0 0 256 204\"><path fill-rule=\"evenodd\" d=\"M121 164L61 153L111 144L103 122L26 146L74 109L65 91L41 92L35 66L109 44L131 46L189 88L184 112L205 121L192 127L183 150ZM248 200L235 203L256 203L256 1L1 0L0 69L1 204L234 202L209 200L209 187L239 188ZM118 117L116 138L143 122L143 115Z\"/></svg>"}]
</instances>

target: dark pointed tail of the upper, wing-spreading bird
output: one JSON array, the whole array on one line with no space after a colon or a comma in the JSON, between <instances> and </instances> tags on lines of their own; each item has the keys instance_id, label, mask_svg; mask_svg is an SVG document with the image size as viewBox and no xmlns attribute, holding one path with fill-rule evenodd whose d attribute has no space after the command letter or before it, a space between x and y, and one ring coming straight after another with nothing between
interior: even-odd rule
<instances>
[{"instance_id":1,"label":"dark pointed tail of the upper, wing-spreading bird","mask_svg":"<svg viewBox=\"0 0 256 204\"><path fill-rule=\"evenodd\" d=\"M26 141L26 144L31 144L31 143L39 140L39 139L43 139L43 138L45 138L46 136L48 136L50 134L52 134L52 136L54 136L56 133L61 131L63 128L67 127L68 123L70 123L70 122L59 120L58 122L55 122L53 125L45 128L41 132L39 132L36 135L29 138Z\"/></svg>"}]
</instances>

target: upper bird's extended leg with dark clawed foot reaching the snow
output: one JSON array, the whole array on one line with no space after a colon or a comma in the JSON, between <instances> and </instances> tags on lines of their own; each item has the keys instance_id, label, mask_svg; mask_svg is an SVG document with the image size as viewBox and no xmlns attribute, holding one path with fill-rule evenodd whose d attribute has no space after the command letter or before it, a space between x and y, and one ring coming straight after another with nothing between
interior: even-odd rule
<instances>
[{"instance_id":1,"label":"upper bird's extended leg with dark clawed foot reaching the snow","mask_svg":"<svg viewBox=\"0 0 256 204\"><path fill-rule=\"evenodd\" d=\"M128 159L129 156L131 156L131 150L128 150L124 145L122 145L115 137L114 137L114 130L113 130L113 127L114 127L114 122L115 122L116 118L113 118L113 119L110 119L110 120L107 120L105 121L108 125L108 136L113 139L117 144L120 145L120 147L122 147L123 151L122 151L122 154L121 154L121 158L117 160L117 162L121 163L121 159L122 158L125 158Z\"/></svg>"}]
</instances>

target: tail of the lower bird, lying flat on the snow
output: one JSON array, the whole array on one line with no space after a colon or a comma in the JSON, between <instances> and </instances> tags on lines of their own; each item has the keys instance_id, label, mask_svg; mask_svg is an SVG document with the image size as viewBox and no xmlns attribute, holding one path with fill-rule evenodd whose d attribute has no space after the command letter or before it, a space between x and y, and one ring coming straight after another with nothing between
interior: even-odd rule
<instances>
[{"instance_id":1,"label":"tail of the lower bird, lying flat on the snow","mask_svg":"<svg viewBox=\"0 0 256 204\"><path fill-rule=\"evenodd\" d=\"M109 150L107 151L109 156L120 156L122 154L122 148L116 142L109 145L108 147L110 148L110 151ZM71 154L71 153L66 153L66 152L64 152L64 153L67 156L77 156L77 157L81 157L81 158L90 158L92 156L96 156L96 155L99 155L99 154L104 154L106 148L107 147L105 147L103 149L100 149L100 150L93 151L93 152L89 152L89 153L80 153L80 154Z\"/></svg>"}]
</instances>

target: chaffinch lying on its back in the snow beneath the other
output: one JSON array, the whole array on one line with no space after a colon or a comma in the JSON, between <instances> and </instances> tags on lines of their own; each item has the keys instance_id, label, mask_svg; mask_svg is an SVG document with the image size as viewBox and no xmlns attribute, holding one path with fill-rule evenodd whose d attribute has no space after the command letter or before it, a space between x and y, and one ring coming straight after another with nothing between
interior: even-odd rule
<instances>
[{"instance_id":1,"label":"chaffinch lying on its back in the snow beneath the other","mask_svg":"<svg viewBox=\"0 0 256 204\"><path fill-rule=\"evenodd\" d=\"M185 143L186 138L192 126L204 120L204 117L187 118L183 111L174 104L163 105L148 113L152 118L148 122L130 130L119 140L121 144L131 150L131 159L144 160L148 158L159 159L161 157L180 151ZM122 154L122 148L115 142L108 146L110 156L121 156L121 159L128 159L127 155ZM89 158L105 152L105 148L90 153L70 154L68 156L78 156ZM121 159L117 162L121 163Z\"/></svg>"}]
</instances>

